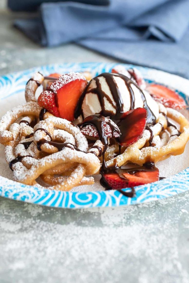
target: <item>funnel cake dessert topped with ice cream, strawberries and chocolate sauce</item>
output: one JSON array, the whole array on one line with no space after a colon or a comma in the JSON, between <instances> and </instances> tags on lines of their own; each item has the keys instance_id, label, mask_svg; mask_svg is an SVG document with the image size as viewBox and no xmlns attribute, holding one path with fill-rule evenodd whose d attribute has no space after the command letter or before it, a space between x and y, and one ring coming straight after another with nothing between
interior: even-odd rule
<instances>
[{"instance_id":1,"label":"funnel cake dessert topped with ice cream, strawberries and chocolate sauce","mask_svg":"<svg viewBox=\"0 0 189 283\"><path fill-rule=\"evenodd\" d=\"M135 68L116 66L95 78L38 72L25 98L1 118L0 143L14 180L26 185L68 191L101 174L105 189L132 197L135 186L160 179L154 164L181 154L189 139L189 122L178 111L184 100L147 84Z\"/></svg>"}]
</instances>

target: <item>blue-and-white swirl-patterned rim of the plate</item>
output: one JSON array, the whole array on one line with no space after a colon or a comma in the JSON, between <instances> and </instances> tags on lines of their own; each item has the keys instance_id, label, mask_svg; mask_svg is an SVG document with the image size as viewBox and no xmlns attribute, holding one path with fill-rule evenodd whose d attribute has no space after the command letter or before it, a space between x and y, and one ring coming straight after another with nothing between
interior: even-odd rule
<instances>
[{"instance_id":1,"label":"blue-and-white swirl-patterned rim of the plate","mask_svg":"<svg viewBox=\"0 0 189 283\"><path fill-rule=\"evenodd\" d=\"M153 74L163 76L165 74L165 81L167 76L171 76L171 78L175 78L174 83L177 85L177 80L182 82L183 88L181 87L181 90L179 88L179 91L183 92L184 95L189 99L189 94L185 93L185 83L188 84L189 87L189 80L186 78L182 78L178 75L175 74L170 74L168 72L162 71L162 70L157 70L155 68L148 68L148 67L143 67L143 66L137 66L133 64L125 64L125 63L101 63L101 62L81 62L81 63L62 63L62 64L50 64L50 65L43 65L40 67L33 67L29 68L26 70L21 70L18 72L12 72L3 76L0 76L0 82L4 78L9 78L11 85L13 81L11 80L14 78L14 76L25 76L27 77L27 74L31 74L31 72L35 72L36 70L39 70L43 72L44 70L50 70L50 69L55 69L55 68L73 68L74 66L78 66L82 68L83 70L86 70L86 66L91 67L95 66L96 69L99 69L100 67L103 66L103 68L112 68L116 65L124 65L126 67L135 67L139 70L143 71L143 74L146 73L146 75L149 75L149 79L152 80ZM145 72L146 71L146 72ZM24 75L25 74L25 75ZM145 76L145 75L144 75ZM155 76L154 78L156 78ZM153 79L154 82L158 82ZM162 82L161 82L162 83ZM166 85L166 84L165 84ZM173 87L173 86L171 86ZM22 91L22 90L20 90ZM14 95L15 92L13 92L11 95ZM0 95L1 95L1 87L0 87ZM2 98L6 99L6 97ZM1 100L1 98L0 98ZM184 175L184 176L183 176ZM45 205L45 206L50 206L50 207L61 207L61 208L89 208L89 207L105 207L105 206L121 206L121 205L131 205L131 204L136 204L136 203L143 203L147 201L152 201L152 200L158 200L162 198L166 198L169 196L173 196L175 194L178 194L180 192L184 192L188 190L187 186L186 189L183 189L183 183L186 183L189 185L189 181L187 180L189 176L189 167L180 171L179 173L172 175L168 178L166 178L166 181L160 180L156 181L154 183L150 183L147 185L141 185L135 187L136 190L136 195L137 192L145 191L145 192L154 192L154 194L150 193L146 195L146 198L144 197L142 200L139 197L135 198L126 198L123 196L120 192L117 190L107 190L107 191L87 191L87 192L63 192L63 191L56 191L56 190L49 190L48 188L37 188L35 186L29 186L29 185L24 185L22 183L18 183L12 180L9 180L3 176L0 176L0 196L3 196L5 198L10 198L14 200L19 200L19 201L25 201L29 203L36 203L40 205ZM173 189L171 192L167 192L166 194L160 194L159 197L156 196L156 191L158 187L161 187L162 185L168 184L171 186L171 184L176 184L177 190ZM179 184L181 187L179 187ZM3 189L4 186L4 189ZM124 189L125 191L129 190ZM25 194L24 194L25 192ZM43 193L43 196L42 196ZM141 193L139 194L141 196ZM73 201L73 199L75 201Z\"/></svg>"}]
</instances>

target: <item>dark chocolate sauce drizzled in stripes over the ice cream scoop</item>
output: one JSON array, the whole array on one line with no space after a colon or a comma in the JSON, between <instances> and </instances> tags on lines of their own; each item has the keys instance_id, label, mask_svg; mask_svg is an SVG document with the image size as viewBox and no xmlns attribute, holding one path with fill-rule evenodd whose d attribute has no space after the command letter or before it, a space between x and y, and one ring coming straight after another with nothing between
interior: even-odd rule
<instances>
[{"instance_id":1,"label":"dark chocolate sauce drizzled in stripes over the ice cream scoop","mask_svg":"<svg viewBox=\"0 0 189 283\"><path fill-rule=\"evenodd\" d=\"M118 88L118 86L117 86L117 84L114 80L115 76L122 78L122 80L124 80L124 82L126 84L126 87L128 88L128 91L130 93L130 99L131 99L130 110L134 109L134 107L135 107L135 96L134 96L134 93L133 93L132 84L134 84L135 87L137 87L139 89L139 91L141 93L141 98L143 99L144 108L147 111L147 123L154 125L155 122L156 122L156 117L155 117L154 113L150 110L150 108L148 107L143 91L128 77L126 77L122 74L116 74L116 73L113 73L113 74L102 73L99 76L93 78L93 80L96 83L96 87L94 89L88 90L88 87L89 87L91 81L88 83L84 92L82 93L81 97L79 98L79 101L78 101L78 104L77 104L77 107L76 107L75 113L74 113L75 118L78 118L79 115L82 115L82 117L83 117L82 103L83 103L85 95L87 93L94 93L94 94L97 94L99 103L101 105L102 110L101 110L100 114L103 114L104 116L110 116L110 117L114 116L114 119L119 119L120 114L124 112L124 103L123 103L123 100L122 100L120 90L119 90L119 88ZM116 105L113 104L111 98L102 90L101 84L99 82L99 77L105 78ZM111 104L111 106L116 110L116 115L114 115L114 113L112 111L108 111L108 110L105 109L104 98L106 98L107 101ZM118 117L116 117L117 115L118 115Z\"/></svg>"}]
</instances>

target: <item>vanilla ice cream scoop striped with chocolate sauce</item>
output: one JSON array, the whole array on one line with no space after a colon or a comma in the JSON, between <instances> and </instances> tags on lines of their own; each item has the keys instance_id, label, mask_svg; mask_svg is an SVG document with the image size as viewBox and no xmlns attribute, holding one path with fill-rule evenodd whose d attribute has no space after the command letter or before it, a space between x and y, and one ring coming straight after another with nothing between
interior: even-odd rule
<instances>
[{"instance_id":1,"label":"vanilla ice cream scoop striped with chocolate sauce","mask_svg":"<svg viewBox=\"0 0 189 283\"><path fill-rule=\"evenodd\" d=\"M116 119L120 113L138 107L147 111L147 123L156 123L159 107L149 93L123 74L103 73L93 78L80 97L76 116L96 113Z\"/></svg>"}]
</instances>

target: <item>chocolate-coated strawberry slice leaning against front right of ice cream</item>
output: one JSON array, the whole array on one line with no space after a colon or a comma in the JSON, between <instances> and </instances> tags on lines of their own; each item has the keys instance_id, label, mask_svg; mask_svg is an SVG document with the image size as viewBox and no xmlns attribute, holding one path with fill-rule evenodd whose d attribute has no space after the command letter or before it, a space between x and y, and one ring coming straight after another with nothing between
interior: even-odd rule
<instances>
[{"instance_id":1,"label":"chocolate-coated strawberry slice leaning against front right of ice cream","mask_svg":"<svg viewBox=\"0 0 189 283\"><path fill-rule=\"evenodd\" d=\"M129 146L141 138L146 127L147 112L145 108L136 108L123 113L117 125L121 131L117 141L122 146Z\"/></svg>"}]
</instances>

